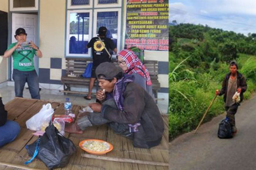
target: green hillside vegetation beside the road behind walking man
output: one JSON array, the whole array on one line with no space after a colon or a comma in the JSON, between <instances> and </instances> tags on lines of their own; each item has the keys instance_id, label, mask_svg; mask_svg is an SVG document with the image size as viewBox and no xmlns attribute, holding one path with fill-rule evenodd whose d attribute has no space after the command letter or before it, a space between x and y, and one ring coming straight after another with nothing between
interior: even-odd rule
<instances>
[{"instance_id":1,"label":"green hillside vegetation beside the road behind walking man","mask_svg":"<svg viewBox=\"0 0 256 170\"><path fill-rule=\"evenodd\" d=\"M245 99L256 89L256 34L237 34L207 25L169 26L169 137L195 129L215 90L221 89L228 63L236 60L247 79ZM205 121L224 112L217 97Z\"/></svg>"}]
</instances>

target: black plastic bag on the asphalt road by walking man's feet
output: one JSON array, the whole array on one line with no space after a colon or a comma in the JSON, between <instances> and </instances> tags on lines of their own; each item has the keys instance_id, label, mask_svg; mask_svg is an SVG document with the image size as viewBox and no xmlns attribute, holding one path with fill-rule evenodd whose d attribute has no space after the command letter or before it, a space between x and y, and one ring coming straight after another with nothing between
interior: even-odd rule
<instances>
[{"instance_id":1,"label":"black plastic bag on the asphalt road by walking man's feet","mask_svg":"<svg viewBox=\"0 0 256 170\"><path fill-rule=\"evenodd\" d=\"M228 139L233 137L231 125L228 118L223 119L219 124L218 137L221 139Z\"/></svg>"}]
</instances>

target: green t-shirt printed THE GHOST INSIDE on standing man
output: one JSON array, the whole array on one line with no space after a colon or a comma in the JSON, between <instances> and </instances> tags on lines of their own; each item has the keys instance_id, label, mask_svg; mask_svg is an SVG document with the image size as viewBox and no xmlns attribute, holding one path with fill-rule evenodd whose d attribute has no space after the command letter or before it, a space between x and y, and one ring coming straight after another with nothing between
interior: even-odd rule
<instances>
[{"instance_id":1,"label":"green t-shirt printed THE GHOST INSIDE on standing man","mask_svg":"<svg viewBox=\"0 0 256 170\"><path fill-rule=\"evenodd\" d=\"M12 43L9 45L8 49L14 47L16 43ZM20 47L17 48L12 56L13 56L13 69L17 69L19 71L33 71L34 67L34 55L36 54L35 49L33 47Z\"/></svg>"}]
</instances>

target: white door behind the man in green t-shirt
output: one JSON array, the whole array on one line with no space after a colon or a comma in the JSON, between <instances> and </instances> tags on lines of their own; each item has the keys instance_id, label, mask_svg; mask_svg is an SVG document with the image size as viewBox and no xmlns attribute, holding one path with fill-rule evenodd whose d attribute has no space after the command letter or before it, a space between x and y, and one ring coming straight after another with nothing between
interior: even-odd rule
<instances>
[{"instance_id":1,"label":"white door behind the man in green t-shirt","mask_svg":"<svg viewBox=\"0 0 256 170\"><path fill-rule=\"evenodd\" d=\"M17 42L15 39L15 31L18 28L24 28L27 33L27 41L33 41L37 44L37 14L19 14L12 13L12 31L11 31L11 43ZM39 60L38 57L34 57L34 66L38 74ZM13 60L11 59L11 80L13 80Z\"/></svg>"}]
</instances>

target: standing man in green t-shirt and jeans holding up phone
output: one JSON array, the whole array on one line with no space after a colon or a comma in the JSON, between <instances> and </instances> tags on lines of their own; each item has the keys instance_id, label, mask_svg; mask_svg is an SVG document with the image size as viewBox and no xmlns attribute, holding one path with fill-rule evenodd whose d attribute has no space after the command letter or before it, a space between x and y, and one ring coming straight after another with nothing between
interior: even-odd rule
<instances>
[{"instance_id":1,"label":"standing man in green t-shirt and jeans holding up phone","mask_svg":"<svg viewBox=\"0 0 256 170\"><path fill-rule=\"evenodd\" d=\"M34 67L34 55L43 56L39 48L32 42L26 42L25 29L18 28L15 32L17 42L9 45L4 57L13 56L13 80L15 96L23 97L24 85L27 82L32 99L40 99L39 79Z\"/></svg>"}]
</instances>

